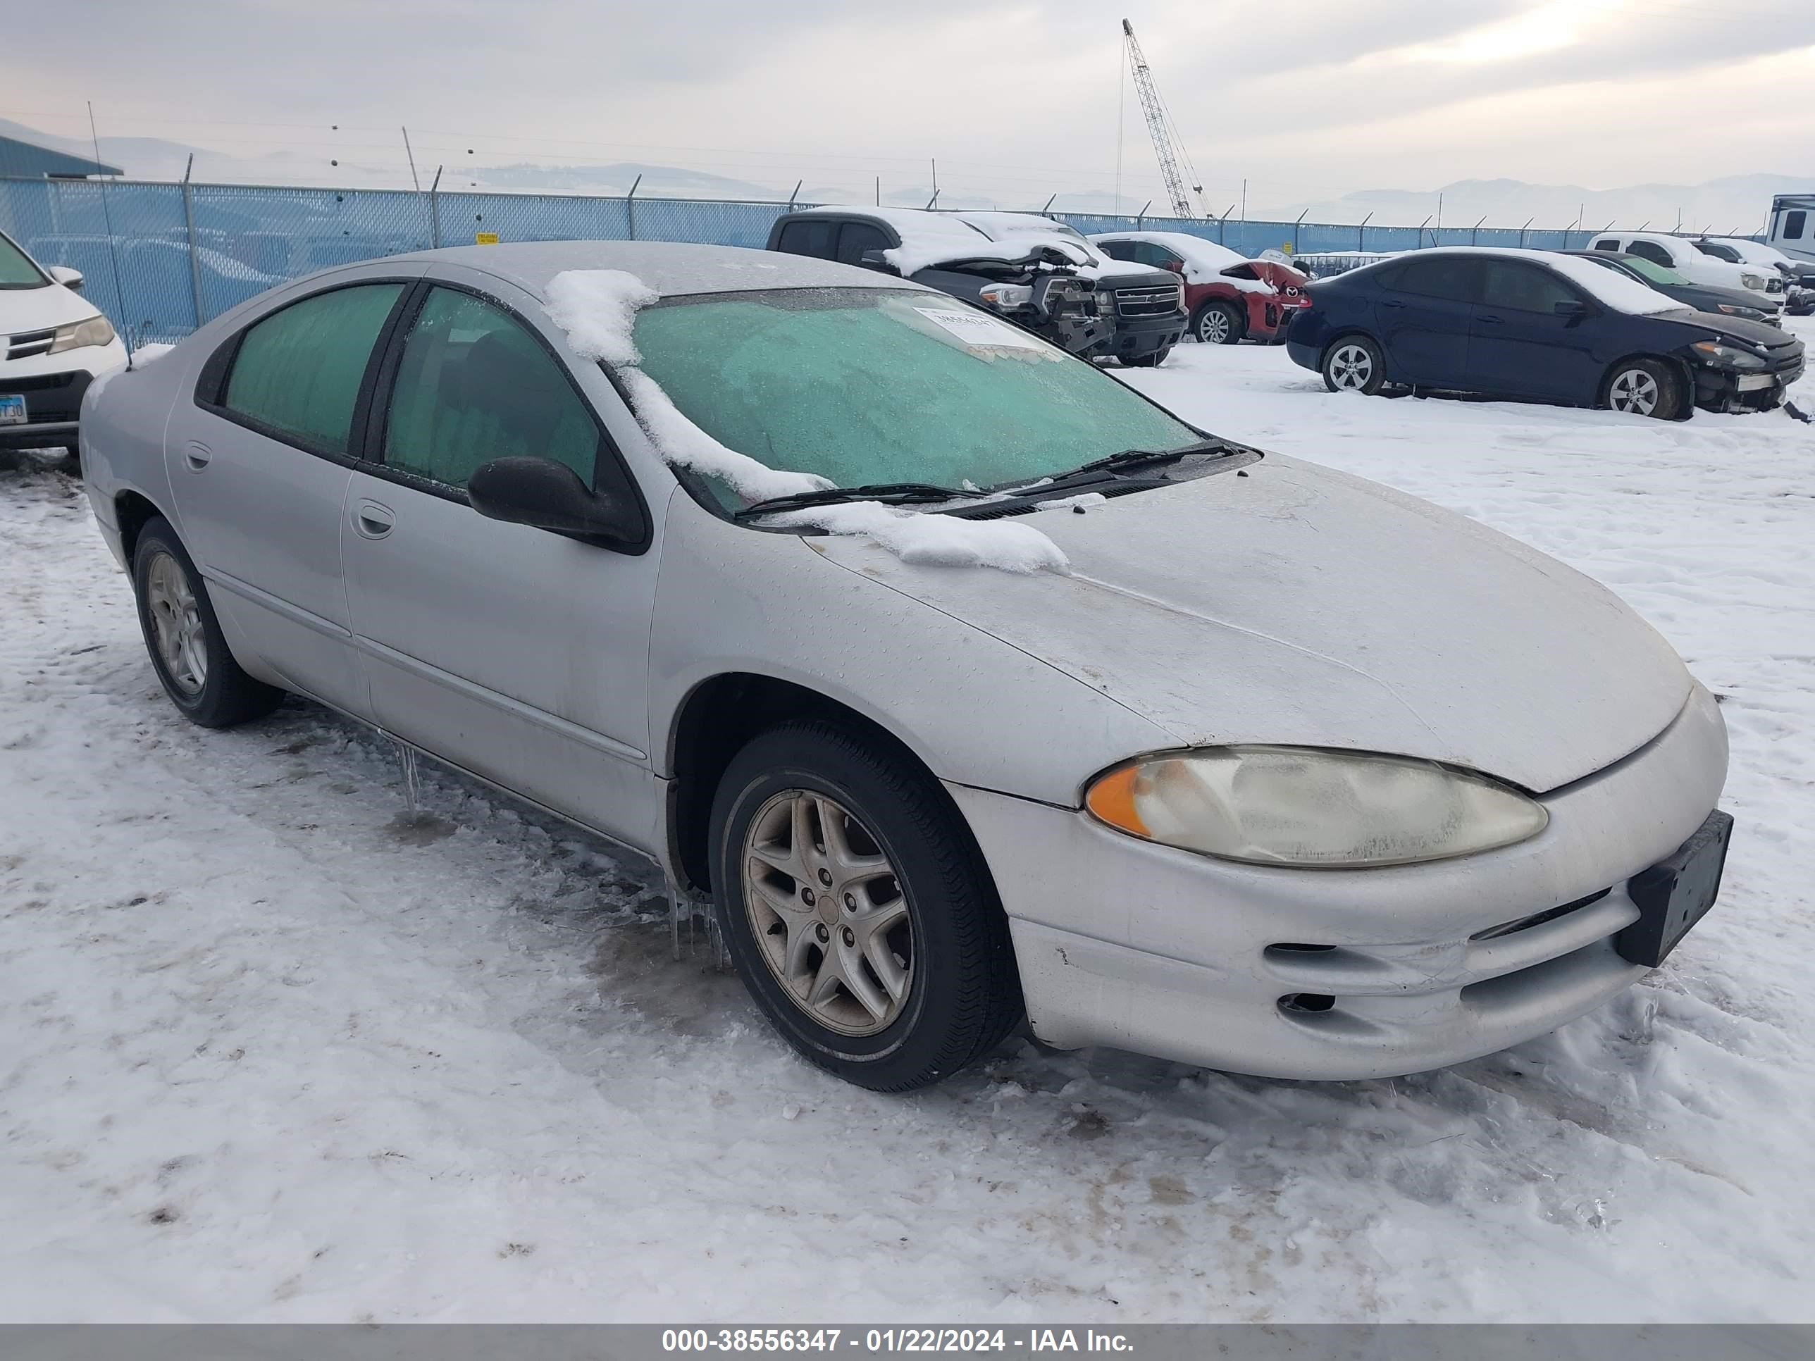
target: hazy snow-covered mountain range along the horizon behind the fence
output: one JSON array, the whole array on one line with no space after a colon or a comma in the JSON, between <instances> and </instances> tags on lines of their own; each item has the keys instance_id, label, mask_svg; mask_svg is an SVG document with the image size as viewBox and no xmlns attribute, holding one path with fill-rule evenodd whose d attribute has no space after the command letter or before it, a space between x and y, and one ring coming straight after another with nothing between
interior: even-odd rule
<instances>
[{"instance_id":1,"label":"hazy snow-covered mountain range along the horizon behind the fence","mask_svg":"<svg viewBox=\"0 0 1815 1361\"><path fill-rule=\"evenodd\" d=\"M0 134L36 142L44 147L93 158L94 151L78 138L60 138L24 123L0 118ZM103 162L125 169L132 180L180 180L189 158L194 156L194 180L212 183L287 183L325 189L397 189L394 167L338 165L301 156L298 152L270 152L267 156L229 156L205 147L191 147L162 138L107 138L100 140ZM423 183L434 174L432 165L421 165ZM641 183L639 183L641 181ZM445 174L443 189L494 189L508 192L564 192L564 194L624 194L632 185L646 198L728 198L800 203L868 203L875 196L869 185L802 183L799 194L793 183L757 183L677 165L646 165L615 162L610 165L461 165L456 174ZM403 185L407 187L407 185ZM1416 227L1428 220L1443 227L1470 227L1485 218L1490 227L1517 227L1532 221L1535 227L1566 227L1581 221L1584 229L1608 223L1637 229L1641 223L1655 230L1713 230L1750 234L1759 230L1773 194L1806 192L1815 189L1815 176L1735 174L1701 185L1630 185L1626 189L1581 189L1577 185L1534 185L1523 180L1459 180L1441 189L1416 192L1405 189L1359 189L1339 198L1301 200L1280 207L1249 211L1254 221L1358 223L1372 214L1379 225ZM891 207L924 207L933 196L931 185L897 187L882 194ZM1441 205L1439 205L1441 196ZM1143 200L1085 191L1058 194L1053 209L1058 212L1138 212ZM989 194L942 192L946 209L1038 209L1022 203L1018 196L993 198ZM1212 211L1221 205L1212 205ZM1441 216L1439 216L1441 214Z\"/></svg>"}]
</instances>

